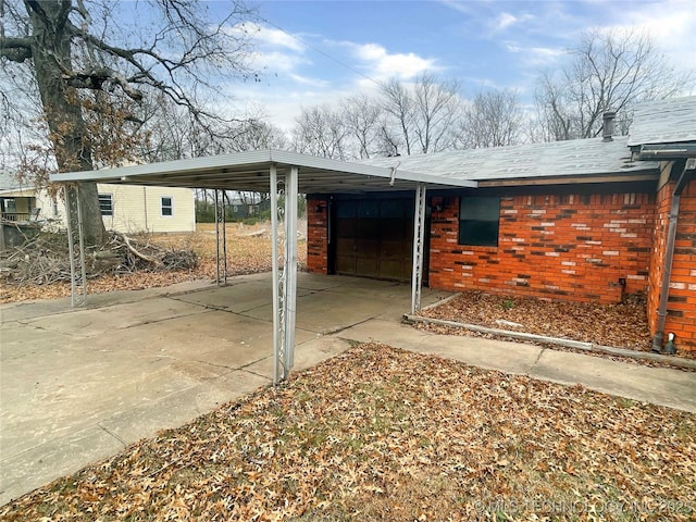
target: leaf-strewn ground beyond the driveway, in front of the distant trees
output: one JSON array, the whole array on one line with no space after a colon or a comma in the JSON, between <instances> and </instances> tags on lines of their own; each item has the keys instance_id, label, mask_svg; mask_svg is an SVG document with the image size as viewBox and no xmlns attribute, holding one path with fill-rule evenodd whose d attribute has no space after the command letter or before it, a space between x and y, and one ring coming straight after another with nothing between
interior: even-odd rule
<instances>
[{"instance_id":1,"label":"leaf-strewn ground beyond the driveway, in front of the distant trees","mask_svg":"<svg viewBox=\"0 0 696 522\"><path fill-rule=\"evenodd\" d=\"M140 290L158 288L195 279L215 278L215 234L214 224L197 225L197 232L189 234L151 234L146 240L163 248L191 249L198 254L198 264L190 270L138 271L120 275L103 275L88 281L90 294L115 290ZM270 225L240 226L227 224L227 275L253 274L271 270L271 238L264 231ZM254 235L260 233L259 235ZM298 243L298 261L306 262L307 243ZM0 303L34 299L58 299L70 296L69 282L50 284L3 284L0 288Z\"/></svg>"}]
</instances>

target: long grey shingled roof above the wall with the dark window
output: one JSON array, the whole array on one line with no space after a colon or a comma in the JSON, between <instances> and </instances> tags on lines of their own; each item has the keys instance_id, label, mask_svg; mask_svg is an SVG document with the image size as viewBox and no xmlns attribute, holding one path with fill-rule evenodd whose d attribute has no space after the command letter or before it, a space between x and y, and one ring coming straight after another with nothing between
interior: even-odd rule
<instances>
[{"instance_id":1,"label":"long grey shingled roof above the wall with the dark window","mask_svg":"<svg viewBox=\"0 0 696 522\"><path fill-rule=\"evenodd\" d=\"M444 181L520 181L646 173L657 162L633 161L627 138L574 139L365 160L370 165L428 174ZM617 179L619 181L619 179Z\"/></svg>"}]
</instances>

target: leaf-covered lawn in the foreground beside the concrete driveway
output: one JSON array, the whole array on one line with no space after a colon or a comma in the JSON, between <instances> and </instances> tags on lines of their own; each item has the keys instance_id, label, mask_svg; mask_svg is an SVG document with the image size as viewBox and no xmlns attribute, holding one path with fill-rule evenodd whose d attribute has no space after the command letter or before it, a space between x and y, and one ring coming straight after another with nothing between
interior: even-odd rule
<instances>
[{"instance_id":1,"label":"leaf-covered lawn in the foreground beside the concrete driveway","mask_svg":"<svg viewBox=\"0 0 696 522\"><path fill-rule=\"evenodd\" d=\"M0 508L20 520L694 520L696 415L352 348Z\"/></svg>"}]
</instances>

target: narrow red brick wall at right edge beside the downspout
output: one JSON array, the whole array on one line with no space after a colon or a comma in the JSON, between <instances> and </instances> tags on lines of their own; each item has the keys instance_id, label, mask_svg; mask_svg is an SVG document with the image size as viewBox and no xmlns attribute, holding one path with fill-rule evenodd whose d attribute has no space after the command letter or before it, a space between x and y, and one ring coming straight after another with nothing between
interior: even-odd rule
<instances>
[{"instance_id":1,"label":"narrow red brick wall at right edge beside the downspout","mask_svg":"<svg viewBox=\"0 0 696 522\"><path fill-rule=\"evenodd\" d=\"M657 331L657 310L673 190L674 183L669 183L659 190L657 198L656 243L650 260L650 291L648 294L648 321L652 334ZM696 351L696 181L692 181L686 186L680 201L664 324L664 334L668 332L676 334L679 349Z\"/></svg>"}]
</instances>

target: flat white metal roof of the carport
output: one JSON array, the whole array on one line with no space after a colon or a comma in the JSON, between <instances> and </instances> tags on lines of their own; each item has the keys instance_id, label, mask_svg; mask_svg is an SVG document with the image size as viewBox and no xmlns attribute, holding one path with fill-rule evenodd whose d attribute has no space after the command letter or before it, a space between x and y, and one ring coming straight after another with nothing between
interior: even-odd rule
<instances>
[{"instance_id":1,"label":"flat white metal roof of the carport","mask_svg":"<svg viewBox=\"0 0 696 522\"><path fill-rule=\"evenodd\" d=\"M476 187L469 179L442 177L388 166L366 165L281 150L258 150L207 158L132 165L101 171L52 174L51 182L96 182L167 187L219 188L269 191L269 169L278 174L299 169L299 191L304 194L413 190L419 183L428 188ZM394 183L391 183L394 181Z\"/></svg>"}]
</instances>

